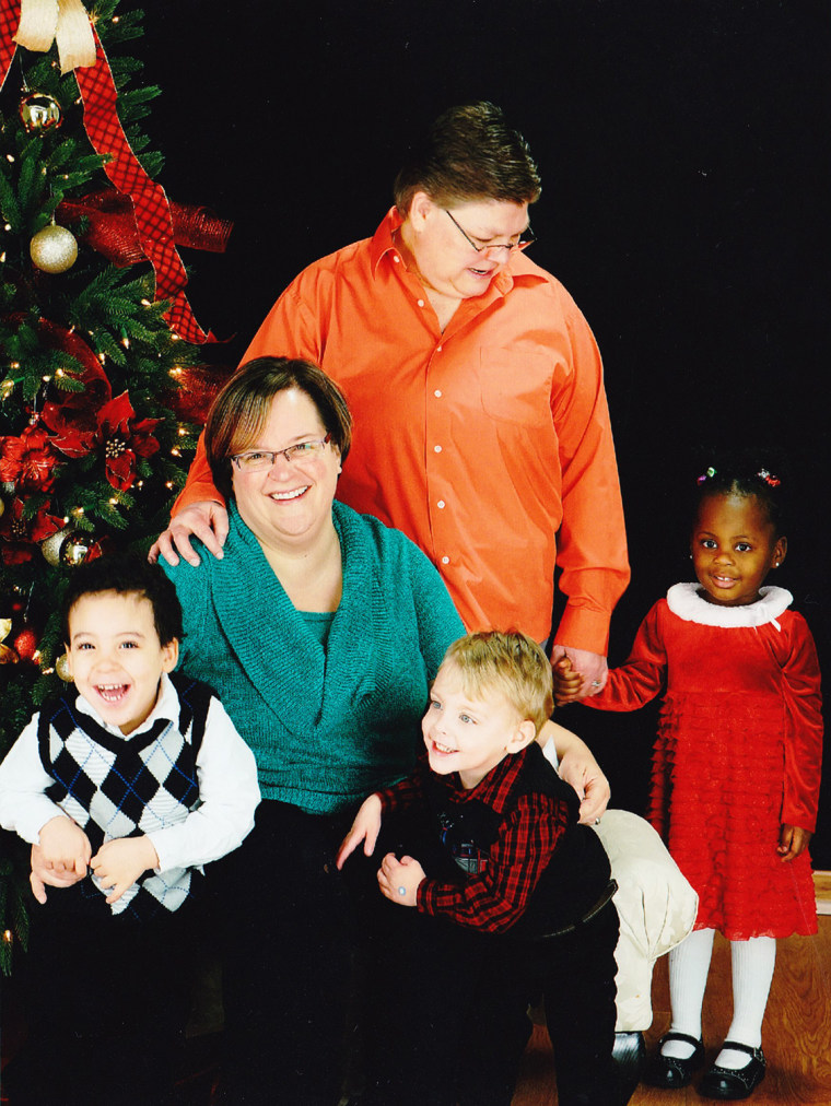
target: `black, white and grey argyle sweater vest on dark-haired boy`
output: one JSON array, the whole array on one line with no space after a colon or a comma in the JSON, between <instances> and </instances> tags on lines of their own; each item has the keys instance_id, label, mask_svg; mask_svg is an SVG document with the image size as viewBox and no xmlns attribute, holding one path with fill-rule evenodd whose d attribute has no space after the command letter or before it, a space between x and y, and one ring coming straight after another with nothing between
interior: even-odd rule
<instances>
[{"instance_id":1,"label":"black, white and grey argyle sweater vest on dark-haired boy","mask_svg":"<svg viewBox=\"0 0 831 1106\"><path fill-rule=\"evenodd\" d=\"M53 783L46 795L90 838L93 856L106 841L138 837L184 822L199 806L196 759L214 695L199 680L174 672L179 698L176 722L159 718L143 733L121 737L75 708L64 693L40 711L38 745ZM191 868L145 872L111 906L147 920L159 909L177 910L191 894ZM106 895L87 875L87 896Z\"/></svg>"}]
</instances>

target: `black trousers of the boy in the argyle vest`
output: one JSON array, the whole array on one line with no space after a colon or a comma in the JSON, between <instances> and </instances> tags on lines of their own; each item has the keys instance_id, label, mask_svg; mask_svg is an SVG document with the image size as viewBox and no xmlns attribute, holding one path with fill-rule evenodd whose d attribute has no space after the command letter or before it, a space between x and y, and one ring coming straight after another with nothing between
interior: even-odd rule
<instances>
[{"instance_id":1,"label":"black trousers of the boy in the argyle vest","mask_svg":"<svg viewBox=\"0 0 831 1106\"><path fill-rule=\"evenodd\" d=\"M112 915L82 885L32 900L22 966L27 1043L9 1077L20 1106L170 1100L190 1011L198 908Z\"/></svg>"}]
</instances>

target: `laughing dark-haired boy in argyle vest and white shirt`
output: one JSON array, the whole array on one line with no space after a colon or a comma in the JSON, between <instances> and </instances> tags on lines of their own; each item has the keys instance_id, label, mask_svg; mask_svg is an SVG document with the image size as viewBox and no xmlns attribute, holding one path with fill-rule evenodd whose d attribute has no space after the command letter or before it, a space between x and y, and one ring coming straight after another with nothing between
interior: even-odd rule
<instances>
[{"instance_id":1,"label":"laughing dark-haired boy in argyle vest and white shirt","mask_svg":"<svg viewBox=\"0 0 831 1106\"><path fill-rule=\"evenodd\" d=\"M12 1102L166 1103L201 866L252 828L257 769L210 688L173 671L181 607L156 565L73 570L63 633L74 689L0 764L0 825L40 846L56 888L32 877Z\"/></svg>"}]
</instances>

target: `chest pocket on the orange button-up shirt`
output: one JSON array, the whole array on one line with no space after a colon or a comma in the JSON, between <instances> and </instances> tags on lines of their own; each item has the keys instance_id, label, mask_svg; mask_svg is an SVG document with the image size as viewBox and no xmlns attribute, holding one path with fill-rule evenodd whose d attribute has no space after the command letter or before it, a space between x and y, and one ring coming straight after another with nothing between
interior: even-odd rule
<instances>
[{"instance_id":1,"label":"chest pocket on the orange button-up shirt","mask_svg":"<svg viewBox=\"0 0 831 1106\"><path fill-rule=\"evenodd\" d=\"M495 419L542 428L552 425L553 357L517 349L479 351L481 405Z\"/></svg>"}]
</instances>

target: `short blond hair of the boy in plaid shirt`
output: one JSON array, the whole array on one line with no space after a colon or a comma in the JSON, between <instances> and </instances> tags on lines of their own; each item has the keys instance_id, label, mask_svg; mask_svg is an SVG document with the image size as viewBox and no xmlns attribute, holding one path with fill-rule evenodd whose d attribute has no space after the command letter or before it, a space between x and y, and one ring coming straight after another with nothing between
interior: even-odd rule
<instances>
[{"instance_id":1,"label":"short blond hair of the boy in plaid shirt","mask_svg":"<svg viewBox=\"0 0 831 1106\"><path fill-rule=\"evenodd\" d=\"M540 732L554 709L551 662L542 648L517 630L467 634L454 641L443 665L459 669L465 695L480 698L491 690L503 695L522 720Z\"/></svg>"}]
</instances>

